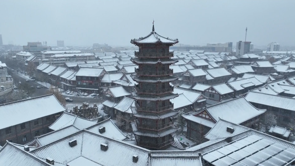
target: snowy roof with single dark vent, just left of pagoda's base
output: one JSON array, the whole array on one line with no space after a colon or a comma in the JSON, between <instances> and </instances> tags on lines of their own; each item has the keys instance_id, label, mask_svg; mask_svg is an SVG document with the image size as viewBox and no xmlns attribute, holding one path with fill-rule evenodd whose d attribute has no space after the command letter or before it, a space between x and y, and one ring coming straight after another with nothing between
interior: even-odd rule
<instances>
[{"instance_id":1,"label":"snowy roof with single dark vent, just left of pagoda's base","mask_svg":"<svg viewBox=\"0 0 295 166\"><path fill-rule=\"evenodd\" d=\"M105 127L104 133L99 133L99 128ZM121 130L112 122L111 118L101 121L93 126L86 128L86 130L91 131L96 134L100 134L112 139L123 140L126 139L126 136L122 133Z\"/></svg>"}]
</instances>

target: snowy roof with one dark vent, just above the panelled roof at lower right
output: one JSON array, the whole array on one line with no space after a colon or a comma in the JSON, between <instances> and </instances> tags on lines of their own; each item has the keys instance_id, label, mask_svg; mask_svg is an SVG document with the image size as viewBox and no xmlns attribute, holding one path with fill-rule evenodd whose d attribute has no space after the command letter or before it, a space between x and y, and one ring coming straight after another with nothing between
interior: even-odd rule
<instances>
[{"instance_id":1,"label":"snowy roof with one dark vent, just above the panelled roof at lower right","mask_svg":"<svg viewBox=\"0 0 295 166\"><path fill-rule=\"evenodd\" d=\"M234 129L233 133L227 131L227 127ZM241 126L223 119L219 119L216 124L211 128L211 130L204 136L206 139L224 139L237 134L240 134L246 130L249 130L248 127Z\"/></svg>"}]
</instances>

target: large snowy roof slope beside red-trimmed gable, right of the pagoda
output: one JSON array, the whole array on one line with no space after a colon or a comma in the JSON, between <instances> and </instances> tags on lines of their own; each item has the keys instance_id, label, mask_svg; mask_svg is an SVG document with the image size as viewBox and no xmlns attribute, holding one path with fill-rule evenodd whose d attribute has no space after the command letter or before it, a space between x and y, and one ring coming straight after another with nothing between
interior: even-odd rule
<instances>
[{"instance_id":1,"label":"large snowy roof slope beside red-trimmed gable, right of the pagoda","mask_svg":"<svg viewBox=\"0 0 295 166\"><path fill-rule=\"evenodd\" d=\"M244 97L238 97L211 105L207 107L206 110L216 121L218 121L219 118L222 118L236 124L247 121L266 111L255 108Z\"/></svg>"}]
</instances>

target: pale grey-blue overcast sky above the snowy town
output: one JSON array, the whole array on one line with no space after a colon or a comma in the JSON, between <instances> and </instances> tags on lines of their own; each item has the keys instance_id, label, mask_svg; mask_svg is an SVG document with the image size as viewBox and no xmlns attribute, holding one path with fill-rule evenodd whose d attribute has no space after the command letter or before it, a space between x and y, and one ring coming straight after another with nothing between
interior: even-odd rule
<instances>
[{"instance_id":1,"label":"pale grey-blue overcast sky above the snowy town","mask_svg":"<svg viewBox=\"0 0 295 166\"><path fill-rule=\"evenodd\" d=\"M245 40L254 45L295 45L295 1L291 0L9 0L0 1L4 44L47 41L56 46L130 40L155 31L179 43L203 45Z\"/></svg>"}]
</instances>

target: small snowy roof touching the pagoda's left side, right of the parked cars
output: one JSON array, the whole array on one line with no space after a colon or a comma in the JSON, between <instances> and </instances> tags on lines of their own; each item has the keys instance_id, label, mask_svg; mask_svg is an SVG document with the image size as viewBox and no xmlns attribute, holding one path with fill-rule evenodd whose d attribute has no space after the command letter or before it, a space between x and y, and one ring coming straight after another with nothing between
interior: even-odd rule
<instances>
[{"instance_id":1,"label":"small snowy roof touching the pagoda's left side, right of the parked cars","mask_svg":"<svg viewBox=\"0 0 295 166\"><path fill-rule=\"evenodd\" d=\"M136 113L135 100L126 96L113 108L125 113Z\"/></svg>"}]
</instances>

